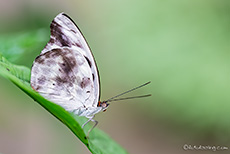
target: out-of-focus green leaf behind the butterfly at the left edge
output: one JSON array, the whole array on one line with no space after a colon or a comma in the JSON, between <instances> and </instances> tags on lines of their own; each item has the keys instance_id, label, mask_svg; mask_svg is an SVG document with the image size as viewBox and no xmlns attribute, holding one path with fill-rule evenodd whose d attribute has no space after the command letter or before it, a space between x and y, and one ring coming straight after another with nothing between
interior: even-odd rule
<instances>
[{"instance_id":1,"label":"out-of-focus green leaf behind the butterfly at the left edge","mask_svg":"<svg viewBox=\"0 0 230 154\"><path fill-rule=\"evenodd\" d=\"M0 52L10 62L31 65L33 57L48 41L49 32L45 29L0 36Z\"/></svg>"}]
</instances>

